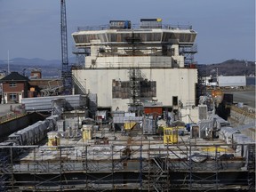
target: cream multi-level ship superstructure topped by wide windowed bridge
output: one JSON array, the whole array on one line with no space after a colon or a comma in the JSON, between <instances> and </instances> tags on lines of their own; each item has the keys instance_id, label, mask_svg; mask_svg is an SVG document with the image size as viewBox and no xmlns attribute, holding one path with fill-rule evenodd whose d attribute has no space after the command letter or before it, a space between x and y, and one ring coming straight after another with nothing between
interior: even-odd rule
<instances>
[{"instance_id":1,"label":"cream multi-level ship superstructure topped by wide windowed bridge","mask_svg":"<svg viewBox=\"0 0 256 192\"><path fill-rule=\"evenodd\" d=\"M127 104L134 109L152 100L163 109L195 107L196 31L191 26L141 19L133 28L129 20L110 20L102 28L78 28L72 36L76 54L84 52L84 68L73 70L73 76L96 94L98 108L126 111Z\"/></svg>"}]
</instances>

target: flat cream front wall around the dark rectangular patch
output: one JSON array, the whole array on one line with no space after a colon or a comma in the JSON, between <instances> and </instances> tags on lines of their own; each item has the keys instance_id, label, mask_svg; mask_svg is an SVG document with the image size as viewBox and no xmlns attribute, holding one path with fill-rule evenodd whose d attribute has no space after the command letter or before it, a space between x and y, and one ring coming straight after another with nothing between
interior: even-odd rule
<instances>
[{"instance_id":1,"label":"flat cream front wall around the dark rectangular patch","mask_svg":"<svg viewBox=\"0 0 256 192\"><path fill-rule=\"evenodd\" d=\"M112 99L112 80L129 81L128 69L73 70L80 82L86 82L88 92L97 93L98 106L126 111L129 100ZM195 68L141 68L141 76L156 81L156 100L172 106L172 96L178 96L183 107L196 104L197 70Z\"/></svg>"}]
</instances>

